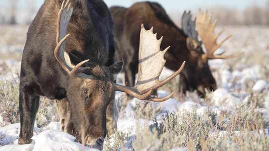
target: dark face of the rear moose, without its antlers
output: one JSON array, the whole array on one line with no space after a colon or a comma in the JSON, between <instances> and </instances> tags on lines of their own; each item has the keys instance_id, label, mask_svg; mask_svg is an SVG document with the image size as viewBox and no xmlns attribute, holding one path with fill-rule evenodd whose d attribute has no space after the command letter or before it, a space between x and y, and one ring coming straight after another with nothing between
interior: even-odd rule
<instances>
[{"instance_id":1,"label":"dark face of the rear moose, without its antlers","mask_svg":"<svg viewBox=\"0 0 269 151\"><path fill-rule=\"evenodd\" d=\"M204 97L206 90L216 90L216 80L212 75L208 59L201 48L201 44L193 40L188 45L188 49L188 64L186 64L185 71L180 77L180 84L183 84L183 92L197 90L198 95Z\"/></svg>"}]
</instances>

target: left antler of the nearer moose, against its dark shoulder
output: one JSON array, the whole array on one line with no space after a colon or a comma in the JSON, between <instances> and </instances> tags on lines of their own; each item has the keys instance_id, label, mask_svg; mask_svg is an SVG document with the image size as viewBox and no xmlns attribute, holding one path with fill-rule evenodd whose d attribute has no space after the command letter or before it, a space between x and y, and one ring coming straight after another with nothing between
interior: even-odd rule
<instances>
[{"instance_id":1,"label":"left antler of the nearer moose, against its dark shoulder","mask_svg":"<svg viewBox=\"0 0 269 151\"><path fill-rule=\"evenodd\" d=\"M54 56L57 62L69 75L77 75L80 72L88 69L81 68L82 65L89 60L85 60L78 65L73 65L70 61L69 55L65 51L65 40L70 34L67 33L67 26L71 19L73 8L69 0L63 0L61 9L58 12L57 27L56 27L56 47L54 49ZM61 39L61 40L60 40Z\"/></svg>"}]
</instances>

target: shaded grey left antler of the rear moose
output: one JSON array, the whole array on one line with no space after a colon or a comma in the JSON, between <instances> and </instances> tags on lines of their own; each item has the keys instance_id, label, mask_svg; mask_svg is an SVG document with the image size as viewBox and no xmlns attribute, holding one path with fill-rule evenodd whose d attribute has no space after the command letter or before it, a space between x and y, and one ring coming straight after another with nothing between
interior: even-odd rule
<instances>
[{"instance_id":1,"label":"shaded grey left antler of the rear moose","mask_svg":"<svg viewBox=\"0 0 269 151\"><path fill-rule=\"evenodd\" d=\"M188 37L192 37L193 39L198 41L198 33L196 31L196 19L192 20L191 11L184 11L181 19L182 30Z\"/></svg>"}]
</instances>

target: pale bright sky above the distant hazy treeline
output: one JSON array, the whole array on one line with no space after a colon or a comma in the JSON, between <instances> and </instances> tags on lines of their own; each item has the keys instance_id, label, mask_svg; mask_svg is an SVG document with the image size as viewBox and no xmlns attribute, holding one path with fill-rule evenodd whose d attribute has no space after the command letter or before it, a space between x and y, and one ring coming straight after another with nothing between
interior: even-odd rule
<instances>
[{"instance_id":1,"label":"pale bright sky above the distant hazy treeline","mask_svg":"<svg viewBox=\"0 0 269 151\"><path fill-rule=\"evenodd\" d=\"M14 10L14 9L11 9L12 2L15 3L13 4L13 7L14 6L16 7L16 22L17 23L29 23L32 20L32 18L35 16L36 11L41 6L43 1L44 0L0 0L0 23L1 23L1 20L8 21L10 19L10 13L12 13L11 10ZM121 5L121 6L129 7L134 2L142 1L142 0L104 0L104 1L108 4L108 6ZM193 10L195 12L199 10L199 8L213 9L212 11L214 12L219 11L219 13L223 13L225 11L227 15L230 15L232 17L234 17L233 13L238 13L238 12L242 13L245 11L245 9L249 7L261 8L267 5L268 6L267 8L269 8L269 0L150 0L150 1L159 2L170 15L173 14L172 15L173 19L180 18L180 16L178 15L179 14L181 15L181 13L184 10ZM219 8L223 8L225 10L222 10L222 9L220 10ZM228 13L227 10L229 10L230 12ZM252 10L252 12L250 13L254 14L255 13L254 11L256 10ZM238 22L238 20L241 19L240 15L246 16L249 14L238 13L238 15L239 16L237 18L231 19L230 22ZM268 14L265 12L256 13L256 16L253 18L255 19L257 18L257 16L259 17L262 15L266 17L266 16L269 16L269 13ZM224 18L223 20L228 19L226 18ZM222 20L222 18L220 18L220 20ZM240 21L240 22L243 22L243 21ZM265 24L265 22L267 21L265 21L264 19L263 22Z\"/></svg>"}]
</instances>

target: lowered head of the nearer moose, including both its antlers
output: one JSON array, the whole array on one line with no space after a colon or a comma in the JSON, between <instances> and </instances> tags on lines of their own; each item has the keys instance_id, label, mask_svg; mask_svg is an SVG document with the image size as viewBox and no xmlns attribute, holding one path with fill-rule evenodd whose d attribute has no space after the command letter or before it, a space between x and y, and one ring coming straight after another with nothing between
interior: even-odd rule
<instances>
[{"instance_id":1,"label":"lowered head of the nearer moose, including both its antlers","mask_svg":"<svg viewBox=\"0 0 269 151\"><path fill-rule=\"evenodd\" d=\"M140 33L139 47L139 73L138 81L134 87L127 87L115 83L114 74L118 74L123 62L110 67L95 65L85 67L91 60L85 60L74 65L69 54L65 51L67 26L69 24L73 8L70 3L62 3L58 13L56 30L56 47L54 55L61 68L68 75L67 99L70 104L72 123L69 131L77 133L77 139L83 144L102 149L106 136L106 108L115 98L115 91L125 92L140 100L162 102L169 99L172 94L164 98L152 96L152 91L163 86L180 74L185 63L173 75L163 81L159 81L159 75L164 67L164 51L160 51L161 39L156 38L151 30L145 30L143 25Z\"/></svg>"}]
</instances>

